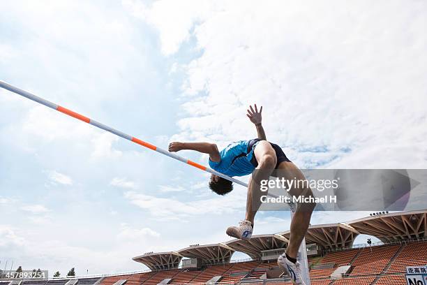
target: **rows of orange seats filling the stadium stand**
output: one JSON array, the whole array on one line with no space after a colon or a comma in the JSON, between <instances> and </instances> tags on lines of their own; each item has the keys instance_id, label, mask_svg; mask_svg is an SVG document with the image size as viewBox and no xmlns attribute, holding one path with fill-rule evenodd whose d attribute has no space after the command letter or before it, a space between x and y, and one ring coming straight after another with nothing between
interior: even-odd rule
<instances>
[{"instance_id":1,"label":"rows of orange seats filling the stadium stand","mask_svg":"<svg viewBox=\"0 0 427 285\"><path fill-rule=\"evenodd\" d=\"M348 249L327 253L322 257L310 258L312 285L403 285L405 267L427 265L427 242L404 242L403 244L381 245L361 249ZM331 279L331 273L339 265L350 265L350 276L341 279ZM227 263L223 265L208 265L204 269L189 270L175 269L158 272L144 272L110 277L81 279L78 284L112 285L126 279L126 285L157 285L164 279L172 279L170 284L206 284L215 276L222 276L218 284L250 284L262 285L260 277L269 268L276 267L275 262L247 261ZM325 266L326 268L321 268ZM329 268L328 268L329 266ZM317 269L316 269L317 268ZM98 282L100 280L100 282ZM67 279L52 279L43 282L23 282L22 285L63 285ZM78 285L77 284L77 285ZM269 280L267 285L290 285L284 279ZM8 285L0 282L0 285Z\"/></svg>"}]
</instances>

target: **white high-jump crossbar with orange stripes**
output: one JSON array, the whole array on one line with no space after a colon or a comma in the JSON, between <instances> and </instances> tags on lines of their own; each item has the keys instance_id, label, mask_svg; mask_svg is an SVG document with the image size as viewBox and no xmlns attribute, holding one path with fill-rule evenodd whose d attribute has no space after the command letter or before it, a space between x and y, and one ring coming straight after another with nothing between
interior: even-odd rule
<instances>
[{"instance_id":1,"label":"white high-jump crossbar with orange stripes","mask_svg":"<svg viewBox=\"0 0 427 285\"><path fill-rule=\"evenodd\" d=\"M8 84L6 82L3 82L1 80L0 80L0 87L3 88L3 89L8 90L10 92L13 92L15 94L24 96L25 98L29 98L32 101L35 101L35 102L40 103L42 105L45 105L46 107L52 108L52 109L57 110L59 112L63 112L64 114L66 114L66 115L68 115L70 117L74 117L75 119L80 119L80 121L86 122L86 123L91 124L93 126L97 126L99 129L103 129L104 131L108 131L110 133L114 133L114 135L116 135L116 136L119 136L121 138L126 138L126 140L130 140L132 142L135 142L138 145L142 145L143 147L147 147L147 148L152 149L152 150L154 150L156 152L160 152L160 154L164 154L165 156L169 156L172 159L177 159L178 161L181 161L183 163L187 163L190 166L194 166L195 168L199 168L200 170L204 170L204 171L206 171L208 173L212 173L214 175L218 175L220 177L223 177L226 180L230 180L231 182L240 184L241 186L248 187L248 184L246 184L245 182L242 182L240 180L234 179L233 177L224 175L223 173L218 173L218 171L216 171L216 170L213 170L213 169L211 169L209 167L206 167L206 166L202 166L201 164L199 164L199 163L197 163L195 161L190 161L190 159L185 159L182 156L179 156L177 154L170 153L170 152L168 152L165 149L162 149L160 147L156 147L156 145L151 145L151 143L144 142L144 140L140 140L139 138L135 138L133 136L129 136L126 133L122 133L121 131L117 131L116 129L113 129L110 126L106 126L105 124L102 124L100 122L96 122L93 119L89 119L88 117L84 117L83 115L80 115L77 112L74 112L74 111L69 110L67 108L63 108L60 105L57 105L57 104L52 103L50 101L47 101L47 100L45 100L43 98L40 98L40 97L38 97L38 96L36 96L34 94L31 94L31 93L29 93L27 91L24 91L22 89L14 87L14 86L12 86L12 85L10 85L10 84Z\"/></svg>"}]
</instances>

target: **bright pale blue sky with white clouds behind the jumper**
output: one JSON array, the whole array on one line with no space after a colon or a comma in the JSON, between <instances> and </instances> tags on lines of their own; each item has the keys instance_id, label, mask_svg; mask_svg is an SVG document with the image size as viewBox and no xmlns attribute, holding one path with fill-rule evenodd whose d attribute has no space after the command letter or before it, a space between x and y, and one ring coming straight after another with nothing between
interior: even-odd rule
<instances>
[{"instance_id":1,"label":"bright pale blue sky with white clouds behind the jumper","mask_svg":"<svg viewBox=\"0 0 427 285\"><path fill-rule=\"evenodd\" d=\"M6 1L0 78L160 147L253 138L257 103L301 168L426 168L426 17L415 0ZM0 111L0 267L140 270L133 256L228 240L244 217L246 189L218 197L199 170L3 89ZM262 212L255 234L289 222Z\"/></svg>"}]
</instances>

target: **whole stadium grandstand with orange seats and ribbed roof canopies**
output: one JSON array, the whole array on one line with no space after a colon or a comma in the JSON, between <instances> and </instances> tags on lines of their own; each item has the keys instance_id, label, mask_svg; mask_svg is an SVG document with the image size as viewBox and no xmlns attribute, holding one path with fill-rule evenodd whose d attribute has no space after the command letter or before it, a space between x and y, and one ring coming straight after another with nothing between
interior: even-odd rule
<instances>
[{"instance_id":1,"label":"whole stadium grandstand with orange seats and ribbed roof canopies","mask_svg":"<svg viewBox=\"0 0 427 285\"><path fill-rule=\"evenodd\" d=\"M310 226L306 234L310 283L407 284L406 267L427 264L426 215L427 210L382 212L354 221ZM285 231L255 235L247 241L149 252L133 258L149 268L144 272L0 285L291 284L286 275L280 276L276 265L289 234ZM380 242L354 244L360 234L374 236ZM248 254L251 260L232 261L236 251ZM269 272L279 273L271 279Z\"/></svg>"}]
</instances>

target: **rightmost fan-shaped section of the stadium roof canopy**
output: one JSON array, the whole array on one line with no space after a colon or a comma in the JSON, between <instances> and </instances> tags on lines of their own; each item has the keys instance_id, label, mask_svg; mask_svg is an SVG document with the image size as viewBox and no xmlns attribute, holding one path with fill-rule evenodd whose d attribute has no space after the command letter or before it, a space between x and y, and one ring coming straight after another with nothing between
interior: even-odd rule
<instances>
[{"instance_id":1,"label":"rightmost fan-shaped section of the stadium roof canopy","mask_svg":"<svg viewBox=\"0 0 427 285\"><path fill-rule=\"evenodd\" d=\"M380 214L348 222L359 233L382 242L427 237L427 210Z\"/></svg>"}]
</instances>

